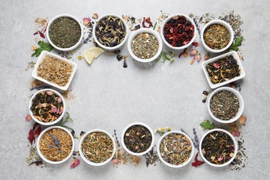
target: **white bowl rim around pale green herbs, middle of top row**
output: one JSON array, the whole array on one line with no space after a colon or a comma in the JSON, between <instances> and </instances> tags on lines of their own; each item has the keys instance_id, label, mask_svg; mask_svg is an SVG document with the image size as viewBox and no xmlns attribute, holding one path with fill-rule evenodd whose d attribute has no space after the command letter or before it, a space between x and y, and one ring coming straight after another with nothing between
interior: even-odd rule
<instances>
[{"instance_id":1,"label":"white bowl rim around pale green herbs, middle of top row","mask_svg":"<svg viewBox=\"0 0 270 180\"><path fill-rule=\"evenodd\" d=\"M141 59L141 58L137 57L136 55L134 55L134 53L132 51L132 41L136 37L136 35L138 35L140 33L150 33L151 35L154 35L154 37L156 37L156 39L159 42L159 49L156 52L156 55L154 55L153 57L151 57L149 59ZM152 30L149 28L141 28L139 30L134 31L134 33L132 33L132 35L130 35L129 40L127 42L127 49L129 51L129 54L132 55L132 57L134 58L134 60L137 60L138 62L152 62L152 61L156 60L156 58L159 57L159 55L161 54L162 40L161 40L159 33L157 33L155 30Z\"/></svg>"}]
</instances>

